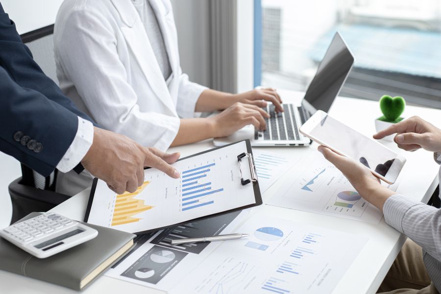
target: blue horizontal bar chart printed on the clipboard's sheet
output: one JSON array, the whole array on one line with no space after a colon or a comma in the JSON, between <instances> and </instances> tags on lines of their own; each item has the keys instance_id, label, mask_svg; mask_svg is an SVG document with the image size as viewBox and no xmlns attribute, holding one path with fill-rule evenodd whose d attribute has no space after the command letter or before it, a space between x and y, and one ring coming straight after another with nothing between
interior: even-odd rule
<instances>
[{"instance_id":1,"label":"blue horizontal bar chart printed on the clipboard's sheet","mask_svg":"<svg viewBox=\"0 0 441 294\"><path fill-rule=\"evenodd\" d=\"M215 166L216 163L210 163L182 172L181 211L214 204L214 200L205 198L223 191L212 189L212 182L206 179Z\"/></svg>"}]
</instances>

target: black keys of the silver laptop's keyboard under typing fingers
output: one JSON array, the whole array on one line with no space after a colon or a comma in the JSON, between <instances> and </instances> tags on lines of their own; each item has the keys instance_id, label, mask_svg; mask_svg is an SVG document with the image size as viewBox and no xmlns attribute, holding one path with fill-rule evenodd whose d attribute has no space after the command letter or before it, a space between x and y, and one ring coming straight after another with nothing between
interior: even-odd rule
<instances>
[{"instance_id":1,"label":"black keys of the silver laptop's keyboard under typing fingers","mask_svg":"<svg viewBox=\"0 0 441 294\"><path fill-rule=\"evenodd\" d=\"M264 140L300 140L293 104L282 104L282 106L284 110L282 113L276 113L273 104L262 108L270 114L270 118L265 119L267 123L265 131L255 131L255 139L263 137Z\"/></svg>"}]
</instances>

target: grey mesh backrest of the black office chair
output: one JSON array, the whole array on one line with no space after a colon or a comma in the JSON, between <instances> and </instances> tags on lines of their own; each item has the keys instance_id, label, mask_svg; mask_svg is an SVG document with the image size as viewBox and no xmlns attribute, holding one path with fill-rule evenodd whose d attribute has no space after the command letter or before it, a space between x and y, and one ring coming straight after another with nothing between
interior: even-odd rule
<instances>
[{"instance_id":1,"label":"grey mesh backrest of the black office chair","mask_svg":"<svg viewBox=\"0 0 441 294\"><path fill-rule=\"evenodd\" d=\"M25 33L20 37L22 38L23 43L25 43L30 49L35 62L40 66L42 71L57 85L59 85L57 78L57 67L53 52L53 27L54 25L48 25ZM23 184L34 186L43 190L53 190L55 172L52 172L48 177L45 178L38 172L29 172L31 170L23 165L22 171Z\"/></svg>"}]
</instances>

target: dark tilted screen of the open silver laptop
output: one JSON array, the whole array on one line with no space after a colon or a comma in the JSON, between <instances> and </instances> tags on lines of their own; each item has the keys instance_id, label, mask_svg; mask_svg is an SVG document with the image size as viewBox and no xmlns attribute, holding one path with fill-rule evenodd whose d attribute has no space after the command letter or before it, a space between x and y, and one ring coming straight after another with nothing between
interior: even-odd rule
<instances>
[{"instance_id":1,"label":"dark tilted screen of the open silver laptop","mask_svg":"<svg viewBox=\"0 0 441 294\"><path fill-rule=\"evenodd\" d=\"M314 106L315 110L328 112L332 102L339 94L353 63L354 56L352 56L337 32L319 64L316 75L306 90L302 106L311 111L311 107L307 105L308 103L304 103L306 100ZM312 114L315 110L311 111Z\"/></svg>"}]
</instances>

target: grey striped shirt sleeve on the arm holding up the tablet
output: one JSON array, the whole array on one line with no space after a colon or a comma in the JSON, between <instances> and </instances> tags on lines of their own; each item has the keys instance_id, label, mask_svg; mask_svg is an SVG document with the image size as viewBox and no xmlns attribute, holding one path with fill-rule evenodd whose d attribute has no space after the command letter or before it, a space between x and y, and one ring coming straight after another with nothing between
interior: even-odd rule
<instances>
[{"instance_id":1,"label":"grey striped shirt sleeve on the arm holding up the tablet","mask_svg":"<svg viewBox=\"0 0 441 294\"><path fill-rule=\"evenodd\" d=\"M386 223L441 261L441 209L396 194L383 206Z\"/></svg>"}]
</instances>

